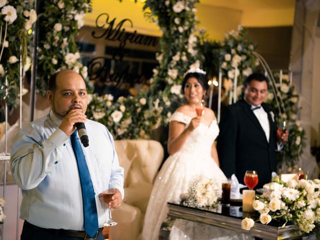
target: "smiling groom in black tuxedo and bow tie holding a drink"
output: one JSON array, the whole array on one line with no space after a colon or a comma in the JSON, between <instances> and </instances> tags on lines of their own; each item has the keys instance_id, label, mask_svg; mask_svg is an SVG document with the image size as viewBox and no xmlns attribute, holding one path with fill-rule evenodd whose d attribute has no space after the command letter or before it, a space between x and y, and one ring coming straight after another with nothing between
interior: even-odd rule
<instances>
[{"instance_id":1,"label":"smiling groom in black tuxedo and bow tie holding a drink","mask_svg":"<svg viewBox=\"0 0 320 240\"><path fill-rule=\"evenodd\" d=\"M227 177L234 173L243 183L245 171L256 170L259 188L276 172L275 151L287 141L288 132L277 133L274 114L263 103L268 91L266 77L252 73L243 86L244 99L228 106L221 117L217 152Z\"/></svg>"}]
</instances>

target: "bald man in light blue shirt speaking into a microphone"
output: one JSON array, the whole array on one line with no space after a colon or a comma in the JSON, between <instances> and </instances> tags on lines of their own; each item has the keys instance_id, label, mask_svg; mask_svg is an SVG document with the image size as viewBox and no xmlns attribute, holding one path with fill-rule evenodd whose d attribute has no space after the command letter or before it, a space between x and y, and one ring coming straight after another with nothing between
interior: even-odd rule
<instances>
[{"instance_id":1,"label":"bald man in light blue shirt speaking into a microphone","mask_svg":"<svg viewBox=\"0 0 320 240\"><path fill-rule=\"evenodd\" d=\"M81 185L70 140L76 122L85 123L89 137L89 146L81 147L98 216L97 236L89 239L103 239L101 227L109 216L99 193L114 182L116 193L108 203L112 208L121 204L124 193L113 138L104 125L86 119L86 87L76 72L52 75L47 99L51 112L21 128L11 150L11 171L23 194L21 239L84 239Z\"/></svg>"}]
</instances>

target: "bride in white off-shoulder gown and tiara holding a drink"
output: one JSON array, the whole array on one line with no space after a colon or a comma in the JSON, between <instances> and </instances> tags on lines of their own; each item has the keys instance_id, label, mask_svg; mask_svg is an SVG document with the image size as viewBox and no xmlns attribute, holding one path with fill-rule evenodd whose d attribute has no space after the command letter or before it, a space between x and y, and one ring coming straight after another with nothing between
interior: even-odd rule
<instances>
[{"instance_id":1,"label":"bride in white off-shoulder gown and tiara holding a drink","mask_svg":"<svg viewBox=\"0 0 320 240\"><path fill-rule=\"evenodd\" d=\"M205 72L195 69L188 72L182 81L186 104L179 107L170 117L168 152L155 180L144 217L143 240L158 239L162 221L167 214L167 201L179 202L180 194L186 193L189 182L202 175L214 178L221 186L226 180L219 168L214 139L219 133L217 121L211 109L204 107L201 116L196 114L207 88ZM196 225L196 227L193 227ZM196 233L194 229L196 230ZM212 232L213 230L213 232ZM222 236L225 231L219 231ZM231 234L229 234L231 232ZM196 238L194 233L196 234ZM225 239L238 239L239 234L227 231ZM213 239L217 238L215 227L176 220L170 232L170 239ZM211 237L212 236L212 237ZM221 239L221 238L219 238Z\"/></svg>"}]
</instances>

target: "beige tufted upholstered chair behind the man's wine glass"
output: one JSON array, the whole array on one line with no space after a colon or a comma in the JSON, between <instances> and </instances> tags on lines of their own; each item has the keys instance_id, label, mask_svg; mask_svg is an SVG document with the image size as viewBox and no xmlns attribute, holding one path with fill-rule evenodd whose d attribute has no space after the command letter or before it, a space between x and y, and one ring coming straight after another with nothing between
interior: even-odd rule
<instances>
[{"instance_id":1,"label":"beige tufted upholstered chair behind the man's wine glass","mask_svg":"<svg viewBox=\"0 0 320 240\"><path fill-rule=\"evenodd\" d=\"M120 165L124 168L124 199L112 210L118 224L109 228L112 240L136 240L154 178L163 159L163 148L155 140L115 140Z\"/></svg>"}]
</instances>

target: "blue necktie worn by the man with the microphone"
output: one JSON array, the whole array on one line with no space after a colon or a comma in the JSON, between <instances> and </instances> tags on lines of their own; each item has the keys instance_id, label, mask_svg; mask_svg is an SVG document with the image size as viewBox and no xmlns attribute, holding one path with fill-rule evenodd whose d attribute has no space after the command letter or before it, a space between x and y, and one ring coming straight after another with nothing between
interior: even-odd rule
<instances>
[{"instance_id":1,"label":"blue necktie worn by the man with the microphone","mask_svg":"<svg viewBox=\"0 0 320 240\"><path fill-rule=\"evenodd\" d=\"M76 137L76 130L71 134L71 145L78 165L81 183L84 231L87 235L94 237L98 230L98 215L95 205L94 190L80 142Z\"/></svg>"}]
</instances>

